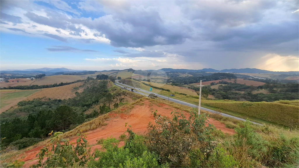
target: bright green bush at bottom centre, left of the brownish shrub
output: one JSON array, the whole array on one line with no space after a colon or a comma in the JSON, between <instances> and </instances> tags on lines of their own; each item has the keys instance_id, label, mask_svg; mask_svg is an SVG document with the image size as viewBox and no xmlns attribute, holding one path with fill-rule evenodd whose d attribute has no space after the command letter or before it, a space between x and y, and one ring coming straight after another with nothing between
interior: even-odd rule
<instances>
[{"instance_id":1,"label":"bright green bush at bottom centre, left of the brownish shrub","mask_svg":"<svg viewBox=\"0 0 299 168\"><path fill-rule=\"evenodd\" d=\"M147 150L144 138L135 135L126 142L126 147L118 148L118 140L107 138L103 141L105 151L95 151L97 161L88 162L88 167L163 167L158 163L158 155Z\"/></svg>"}]
</instances>

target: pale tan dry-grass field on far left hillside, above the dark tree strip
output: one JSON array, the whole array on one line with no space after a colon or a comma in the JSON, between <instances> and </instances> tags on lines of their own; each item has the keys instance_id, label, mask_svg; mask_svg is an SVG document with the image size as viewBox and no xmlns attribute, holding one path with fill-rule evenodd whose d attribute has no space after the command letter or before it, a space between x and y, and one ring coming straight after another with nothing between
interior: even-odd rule
<instances>
[{"instance_id":1,"label":"pale tan dry-grass field on far left hillside, above the dark tree strip","mask_svg":"<svg viewBox=\"0 0 299 168\"><path fill-rule=\"evenodd\" d=\"M42 79L33 80L32 85L52 85L54 83L74 82L76 80L84 80L85 78L79 75L54 75L43 77Z\"/></svg>"}]
</instances>

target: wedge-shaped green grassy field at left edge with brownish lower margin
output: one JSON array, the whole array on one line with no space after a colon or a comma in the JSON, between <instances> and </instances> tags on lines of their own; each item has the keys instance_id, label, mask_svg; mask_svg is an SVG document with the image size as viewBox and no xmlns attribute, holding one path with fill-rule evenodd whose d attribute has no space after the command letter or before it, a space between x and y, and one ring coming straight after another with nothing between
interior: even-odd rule
<instances>
[{"instance_id":1,"label":"wedge-shaped green grassy field at left edge with brownish lower margin","mask_svg":"<svg viewBox=\"0 0 299 168\"><path fill-rule=\"evenodd\" d=\"M0 113L5 112L10 107L15 106L19 101L25 100L31 94L34 94L41 89L26 90L26 91L11 91L2 92L0 94Z\"/></svg>"}]
</instances>

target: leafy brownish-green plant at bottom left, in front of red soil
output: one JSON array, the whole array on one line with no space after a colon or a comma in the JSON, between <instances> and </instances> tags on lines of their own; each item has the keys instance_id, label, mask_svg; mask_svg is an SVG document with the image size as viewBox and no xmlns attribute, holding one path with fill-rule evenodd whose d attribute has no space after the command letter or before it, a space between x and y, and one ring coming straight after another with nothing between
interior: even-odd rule
<instances>
[{"instance_id":1,"label":"leafy brownish-green plant at bottom left, in front of red soil","mask_svg":"<svg viewBox=\"0 0 299 168\"><path fill-rule=\"evenodd\" d=\"M52 131L53 132L53 131ZM52 135L52 132L49 135ZM69 139L60 139L60 136L53 136L50 143L43 147L36 155L39 162L32 167L73 167L84 166L90 158L91 149L88 148L86 135L78 134L76 146L73 146ZM61 144L64 143L64 144ZM55 146L56 145L56 146ZM48 157L45 161L44 158Z\"/></svg>"}]
</instances>

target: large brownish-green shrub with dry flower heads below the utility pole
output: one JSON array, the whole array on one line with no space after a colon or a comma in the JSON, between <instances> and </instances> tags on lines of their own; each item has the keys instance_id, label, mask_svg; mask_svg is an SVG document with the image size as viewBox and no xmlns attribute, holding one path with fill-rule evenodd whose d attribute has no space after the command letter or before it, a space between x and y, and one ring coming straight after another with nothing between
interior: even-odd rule
<instances>
[{"instance_id":1,"label":"large brownish-green shrub with dry flower heads below the utility pole","mask_svg":"<svg viewBox=\"0 0 299 168\"><path fill-rule=\"evenodd\" d=\"M172 112L173 113L173 112ZM161 163L170 167L190 166L189 152L199 148L204 158L209 159L216 145L212 142L210 131L213 127L205 126L207 117L190 112L187 120L183 114L173 113L173 119L153 113L155 125L149 123L146 145L161 157Z\"/></svg>"}]
</instances>

